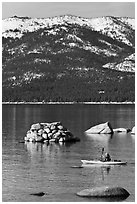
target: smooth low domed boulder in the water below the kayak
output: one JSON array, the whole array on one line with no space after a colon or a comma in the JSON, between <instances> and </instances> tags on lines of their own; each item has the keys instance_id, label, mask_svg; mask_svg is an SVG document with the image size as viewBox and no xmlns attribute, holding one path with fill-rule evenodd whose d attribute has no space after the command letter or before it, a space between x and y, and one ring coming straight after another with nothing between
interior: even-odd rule
<instances>
[{"instance_id":1,"label":"smooth low domed boulder in the water below the kayak","mask_svg":"<svg viewBox=\"0 0 137 204\"><path fill-rule=\"evenodd\" d=\"M92 189L84 189L77 193L78 196L82 197L125 197L127 198L130 194L127 190L121 187L95 187Z\"/></svg>"}]
</instances>

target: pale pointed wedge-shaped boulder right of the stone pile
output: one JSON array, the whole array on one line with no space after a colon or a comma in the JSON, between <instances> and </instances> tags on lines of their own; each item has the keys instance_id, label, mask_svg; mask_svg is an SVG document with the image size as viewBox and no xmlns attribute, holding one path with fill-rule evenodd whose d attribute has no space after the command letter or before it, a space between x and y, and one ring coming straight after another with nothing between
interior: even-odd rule
<instances>
[{"instance_id":1,"label":"pale pointed wedge-shaped boulder right of the stone pile","mask_svg":"<svg viewBox=\"0 0 137 204\"><path fill-rule=\"evenodd\" d=\"M91 127L90 129L86 130L85 133L87 134L111 134L113 133L113 129L109 122L102 123Z\"/></svg>"}]
</instances>

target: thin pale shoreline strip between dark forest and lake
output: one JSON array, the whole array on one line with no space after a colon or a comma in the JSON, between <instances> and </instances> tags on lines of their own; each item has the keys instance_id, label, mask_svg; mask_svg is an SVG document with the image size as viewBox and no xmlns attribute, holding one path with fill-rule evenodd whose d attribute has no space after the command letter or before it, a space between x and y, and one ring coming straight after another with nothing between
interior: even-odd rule
<instances>
[{"instance_id":1,"label":"thin pale shoreline strip between dark forest and lake","mask_svg":"<svg viewBox=\"0 0 137 204\"><path fill-rule=\"evenodd\" d=\"M46 104L135 104L135 102L2 102L2 105L46 105Z\"/></svg>"}]
</instances>

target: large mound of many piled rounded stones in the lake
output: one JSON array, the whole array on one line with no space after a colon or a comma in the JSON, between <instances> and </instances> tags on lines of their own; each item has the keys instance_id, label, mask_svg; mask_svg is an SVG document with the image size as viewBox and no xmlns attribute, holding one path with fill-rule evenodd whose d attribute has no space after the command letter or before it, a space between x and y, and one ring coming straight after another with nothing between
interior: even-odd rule
<instances>
[{"instance_id":1,"label":"large mound of many piled rounded stones in the lake","mask_svg":"<svg viewBox=\"0 0 137 204\"><path fill-rule=\"evenodd\" d=\"M79 138L74 137L61 122L53 122L31 125L24 140L28 142L76 142Z\"/></svg>"}]
</instances>

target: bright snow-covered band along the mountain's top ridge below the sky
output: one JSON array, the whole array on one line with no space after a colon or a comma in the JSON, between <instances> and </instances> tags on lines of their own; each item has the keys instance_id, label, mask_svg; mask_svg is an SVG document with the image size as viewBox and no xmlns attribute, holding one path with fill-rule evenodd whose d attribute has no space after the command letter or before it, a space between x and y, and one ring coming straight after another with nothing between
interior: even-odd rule
<instances>
[{"instance_id":1,"label":"bright snow-covered band along the mountain's top ridge below the sky","mask_svg":"<svg viewBox=\"0 0 137 204\"><path fill-rule=\"evenodd\" d=\"M107 34L113 39L121 40L122 42L133 45L130 39L127 39L125 32L128 33L131 29L135 30L135 20L127 17L99 17L99 18L82 18L77 16L65 15L54 18L28 18L28 17L11 17L4 19L2 22L2 36L21 38L27 32L34 32L41 28L51 28L49 34L56 35L58 30L55 30L56 25L62 26L66 30L66 25L77 24L79 26L87 26L92 30ZM66 30L67 31L67 30Z\"/></svg>"}]
</instances>

